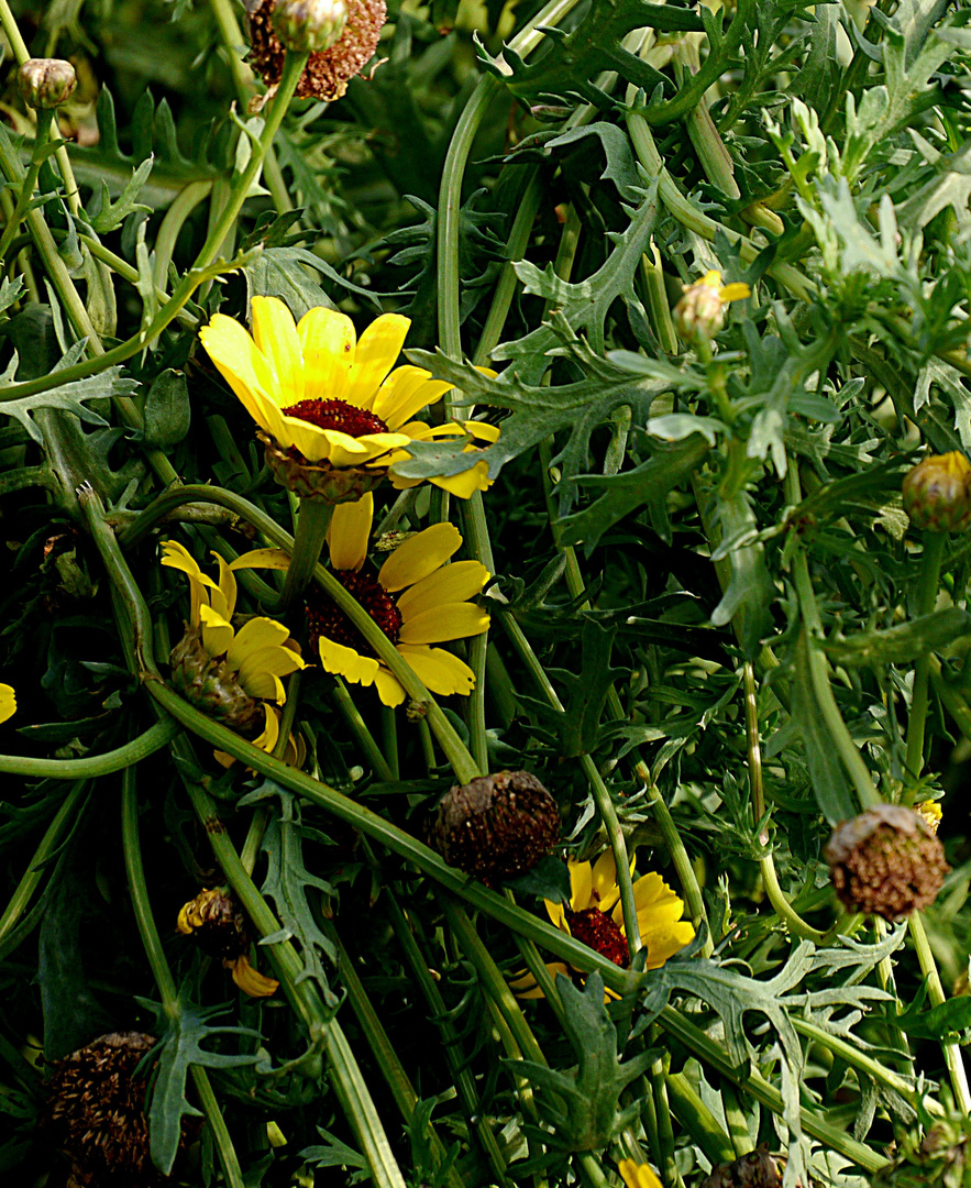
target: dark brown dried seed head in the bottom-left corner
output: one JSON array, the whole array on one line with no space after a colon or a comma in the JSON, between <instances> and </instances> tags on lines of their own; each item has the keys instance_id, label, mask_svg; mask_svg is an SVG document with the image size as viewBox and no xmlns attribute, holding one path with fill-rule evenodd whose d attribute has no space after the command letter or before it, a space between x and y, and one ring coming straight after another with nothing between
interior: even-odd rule
<instances>
[{"instance_id":1,"label":"dark brown dried seed head in the bottom-left corner","mask_svg":"<svg viewBox=\"0 0 971 1188\"><path fill-rule=\"evenodd\" d=\"M113 1031L53 1066L43 1125L74 1161L72 1184L163 1188L171 1183L152 1165L145 1117L148 1081L135 1076L154 1043L140 1031Z\"/></svg>"}]
</instances>

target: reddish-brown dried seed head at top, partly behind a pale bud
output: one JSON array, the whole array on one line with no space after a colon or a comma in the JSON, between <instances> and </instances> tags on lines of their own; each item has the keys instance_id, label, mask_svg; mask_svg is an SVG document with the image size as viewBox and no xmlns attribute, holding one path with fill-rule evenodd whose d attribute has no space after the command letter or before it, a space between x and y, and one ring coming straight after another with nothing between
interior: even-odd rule
<instances>
[{"instance_id":1,"label":"reddish-brown dried seed head at top, partly behind a pale bud","mask_svg":"<svg viewBox=\"0 0 971 1188\"><path fill-rule=\"evenodd\" d=\"M268 87L284 72L286 51L273 27L273 10L281 0L262 0L249 12L247 61ZM339 0L338 0L339 2ZM329 49L310 55L297 84L298 99L339 99L350 80L374 57L388 10L385 0L344 0L347 23Z\"/></svg>"}]
</instances>

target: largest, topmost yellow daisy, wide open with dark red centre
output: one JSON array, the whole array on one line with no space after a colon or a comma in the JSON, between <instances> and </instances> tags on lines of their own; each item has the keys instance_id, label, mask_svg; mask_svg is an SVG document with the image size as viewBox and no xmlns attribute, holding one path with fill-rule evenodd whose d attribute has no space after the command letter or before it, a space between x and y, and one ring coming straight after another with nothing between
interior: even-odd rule
<instances>
[{"instance_id":1,"label":"largest, topmost yellow daisy, wide open with dark red centre","mask_svg":"<svg viewBox=\"0 0 971 1188\"><path fill-rule=\"evenodd\" d=\"M262 430L267 461L291 489L331 503L357 499L406 456L410 442L464 431L413 419L452 385L420 367L394 367L410 318L382 314L358 340L347 315L323 305L299 323L275 297L254 297L250 308L252 337L215 314L199 339ZM332 473L351 469L353 479ZM477 465L429 481L468 498L485 489L488 475Z\"/></svg>"}]
</instances>

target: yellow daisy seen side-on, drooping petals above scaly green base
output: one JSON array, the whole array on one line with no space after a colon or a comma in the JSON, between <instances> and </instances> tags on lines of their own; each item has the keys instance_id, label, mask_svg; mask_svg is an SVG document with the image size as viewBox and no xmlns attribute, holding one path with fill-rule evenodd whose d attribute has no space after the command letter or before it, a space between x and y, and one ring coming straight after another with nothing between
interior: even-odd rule
<instances>
[{"instance_id":1,"label":"yellow daisy seen side-on, drooping petals above scaly green base","mask_svg":"<svg viewBox=\"0 0 971 1188\"><path fill-rule=\"evenodd\" d=\"M279 718L266 704L283 706L286 691L280 680L305 668L286 627L264 617L248 619L239 631L230 623L236 607L240 562L227 563L217 554L218 582L199 569L177 541L161 545L163 565L189 579L190 615L183 639L172 649L172 684L204 713L245 733L262 726L254 740L272 751L279 737Z\"/></svg>"}]
</instances>

